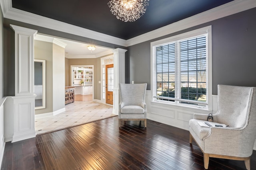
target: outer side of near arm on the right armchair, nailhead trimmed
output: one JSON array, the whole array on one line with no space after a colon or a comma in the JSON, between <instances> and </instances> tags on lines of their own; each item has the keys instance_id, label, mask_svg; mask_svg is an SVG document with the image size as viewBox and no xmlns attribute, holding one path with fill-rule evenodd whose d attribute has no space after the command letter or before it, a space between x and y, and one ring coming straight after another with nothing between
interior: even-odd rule
<instances>
[{"instance_id":1,"label":"outer side of near arm on the right armchair, nailhead trimmed","mask_svg":"<svg viewBox=\"0 0 256 170\"><path fill-rule=\"evenodd\" d=\"M202 150L210 154L249 157L254 140L255 136L250 135L246 128L210 127L203 139Z\"/></svg>"}]
</instances>

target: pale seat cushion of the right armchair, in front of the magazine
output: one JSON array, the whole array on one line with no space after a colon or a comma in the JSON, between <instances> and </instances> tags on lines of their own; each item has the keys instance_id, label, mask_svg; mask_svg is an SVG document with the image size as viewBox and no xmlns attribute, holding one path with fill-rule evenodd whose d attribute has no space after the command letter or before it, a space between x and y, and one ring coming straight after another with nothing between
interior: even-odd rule
<instances>
[{"instance_id":1,"label":"pale seat cushion of the right armchair, in front of the magazine","mask_svg":"<svg viewBox=\"0 0 256 170\"><path fill-rule=\"evenodd\" d=\"M208 133L210 131L210 127L200 126L198 121L202 121L202 120L190 119L189 126L191 129L193 129L197 133L199 139L203 140L204 137L206 137L206 135L208 135Z\"/></svg>"}]
</instances>

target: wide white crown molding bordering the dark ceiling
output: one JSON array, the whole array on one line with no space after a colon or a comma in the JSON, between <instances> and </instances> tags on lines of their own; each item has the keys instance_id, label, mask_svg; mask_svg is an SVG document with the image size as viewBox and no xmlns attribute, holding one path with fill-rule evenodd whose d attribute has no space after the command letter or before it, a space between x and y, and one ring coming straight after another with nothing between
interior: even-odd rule
<instances>
[{"instance_id":1,"label":"wide white crown molding bordering the dark ceiling","mask_svg":"<svg viewBox=\"0 0 256 170\"><path fill-rule=\"evenodd\" d=\"M64 23L61 21L57 21L57 20L53 20L43 16L39 16L36 14L32 14L30 12L25 12L22 10L18 10L16 8L12 8L12 0L0 0L0 5L2 7L4 18L17 20L17 21L29 23L32 25L38 25L40 27L46 27L49 29L54 29L57 31L65 32L65 33L87 37L90 39L104 41L106 43L112 43L112 44L121 45L124 47L129 47L132 45L136 45L138 43L142 43L142 42L149 41L158 37L162 37L164 35L168 35L177 31L181 31L183 29L194 27L202 23L217 20L219 18L223 18L232 14L236 14L238 12L255 8L256 0L234 0L222 6L218 6L211 10L191 16L184 20L177 21L170 25L166 25L159 29L155 29L153 31L144 33L142 35L139 35L137 37L134 37L128 40L120 39L120 38L106 35L103 33L98 33L96 31L92 31L89 29L85 29L85 28Z\"/></svg>"}]
</instances>

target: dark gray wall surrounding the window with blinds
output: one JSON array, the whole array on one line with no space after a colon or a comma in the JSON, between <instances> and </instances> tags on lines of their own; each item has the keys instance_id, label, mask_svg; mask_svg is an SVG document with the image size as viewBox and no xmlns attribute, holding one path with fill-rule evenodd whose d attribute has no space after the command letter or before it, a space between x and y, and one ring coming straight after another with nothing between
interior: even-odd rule
<instances>
[{"instance_id":1,"label":"dark gray wall surrounding the window with blinds","mask_svg":"<svg viewBox=\"0 0 256 170\"><path fill-rule=\"evenodd\" d=\"M150 42L212 25L212 94L218 84L256 86L255 16L253 8L128 47L126 82L146 82L150 90Z\"/></svg>"}]
</instances>

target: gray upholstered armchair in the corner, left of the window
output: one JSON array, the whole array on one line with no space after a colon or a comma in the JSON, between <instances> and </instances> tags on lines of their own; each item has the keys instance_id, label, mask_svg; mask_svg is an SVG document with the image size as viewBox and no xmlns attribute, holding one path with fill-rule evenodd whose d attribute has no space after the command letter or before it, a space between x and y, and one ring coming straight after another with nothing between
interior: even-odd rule
<instances>
[{"instance_id":1,"label":"gray upholstered armchair in the corner, left of the window","mask_svg":"<svg viewBox=\"0 0 256 170\"><path fill-rule=\"evenodd\" d=\"M121 120L143 120L147 126L146 89L146 83L119 84L119 127Z\"/></svg>"}]
</instances>

